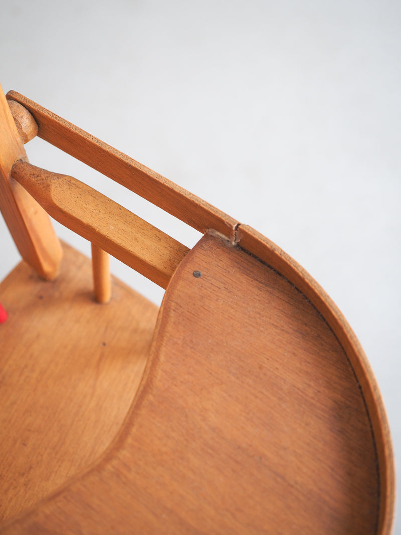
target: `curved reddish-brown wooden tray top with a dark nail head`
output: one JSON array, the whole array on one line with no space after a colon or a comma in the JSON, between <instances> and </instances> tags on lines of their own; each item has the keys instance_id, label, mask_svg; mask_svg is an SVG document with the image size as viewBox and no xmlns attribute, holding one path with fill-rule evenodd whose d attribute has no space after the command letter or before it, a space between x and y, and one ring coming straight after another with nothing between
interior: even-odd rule
<instances>
[{"instance_id":1,"label":"curved reddish-brown wooden tray top with a dark nail head","mask_svg":"<svg viewBox=\"0 0 401 535\"><path fill-rule=\"evenodd\" d=\"M314 305L209 235L167 289L114 447L4 533L388 533L380 440Z\"/></svg>"}]
</instances>

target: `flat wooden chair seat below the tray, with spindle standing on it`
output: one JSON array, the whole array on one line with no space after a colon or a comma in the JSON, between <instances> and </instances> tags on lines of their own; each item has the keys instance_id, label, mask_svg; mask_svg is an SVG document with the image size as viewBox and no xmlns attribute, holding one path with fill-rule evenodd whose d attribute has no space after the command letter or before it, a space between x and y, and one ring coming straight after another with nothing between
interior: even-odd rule
<instances>
[{"instance_id":1,"label":"flat wooden chair seat below the tray, with spindle standing on it","mask_svg":"<svg viewBox=\"0 0 401 535\"><path fill-rule=\"evenodd\" d=\"M101 456L133 401L157 307L113 278L94 302L90 259L65 246L59 277L21 263L0 284L0 523Z\"/></svg>"}]
</instances>

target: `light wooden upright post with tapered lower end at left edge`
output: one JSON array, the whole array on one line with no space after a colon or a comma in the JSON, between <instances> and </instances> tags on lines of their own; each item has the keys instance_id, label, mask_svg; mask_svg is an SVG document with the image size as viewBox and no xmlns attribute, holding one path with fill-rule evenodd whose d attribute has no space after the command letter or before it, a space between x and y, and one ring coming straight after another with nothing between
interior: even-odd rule
<instances>
[{"instance_id":1,"label":"light wooden upright post with tapered lower end at left edge","mask_svg":"<svg viewBox=\"0 0 401 535\"><path fill-rule=\"evenodd\" d=\"M47 213L11 178L14 162L27 162L27 156L1 87L0 125L0 211L22 258L41 277L52 280L58 273L61 247Z\"/></svg>"}]
</instances>

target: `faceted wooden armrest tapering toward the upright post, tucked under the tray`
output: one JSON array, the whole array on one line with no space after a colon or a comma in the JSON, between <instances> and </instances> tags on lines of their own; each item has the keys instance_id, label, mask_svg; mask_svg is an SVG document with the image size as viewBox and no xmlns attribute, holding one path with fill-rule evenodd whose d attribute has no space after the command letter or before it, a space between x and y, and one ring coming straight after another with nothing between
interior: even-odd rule
<instances>
[{"instance_id":1,"label":"faceted wooden armrest tapering toward the upright post, tucked under the tray","mask_svg":"<svg viewBox=\"0 0 401 535\"><path fill-rule=\"evenodd\" d=\"M22 161L11 176L59 223L166 288L189 249L95 189Z\"/></svg>"}]
</instances>

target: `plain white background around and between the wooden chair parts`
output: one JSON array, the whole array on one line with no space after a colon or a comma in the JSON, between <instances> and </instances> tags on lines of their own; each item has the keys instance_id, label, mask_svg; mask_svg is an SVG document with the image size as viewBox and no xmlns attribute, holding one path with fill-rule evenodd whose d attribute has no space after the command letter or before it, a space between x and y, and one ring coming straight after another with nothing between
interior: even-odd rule
<instances>
[{"instance_id":1,"label":"plain white background around and between the wooden chair parts","mask_svg":"<svg viewBox=\"0 0 401 535\"><path fill-rule=\"evenodd\" d=\"M4 91L255 227L311 273L367 353L398 461L401 3L24 0L1 20ZM26 149L188 246L200 237L43 141ZM19 255L2 219L0 245L3 278Z\"/></svg>"}]
</instances>

